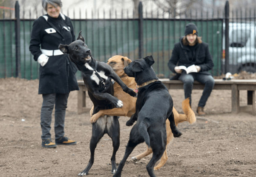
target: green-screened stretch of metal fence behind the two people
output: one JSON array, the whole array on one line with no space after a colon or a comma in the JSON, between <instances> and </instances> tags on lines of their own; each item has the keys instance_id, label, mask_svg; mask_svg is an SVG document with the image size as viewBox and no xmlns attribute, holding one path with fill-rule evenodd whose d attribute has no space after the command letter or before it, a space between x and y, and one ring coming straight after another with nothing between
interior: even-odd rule
<instances>
[{"instance_id":1,"label":"green-screened stretch of metal fence behind the two people","mask_svg":"<svg viewBox=\"0 0 256 177\"><path fill-rule=\"evenodd\" d=\"M16 3L16 10L19 6ZM140 6L139 14L142 14ZM18 13L19 14L19 13ZM194 22L198 35L209 43L214 68L210 72L219 75L223 70L222 39L223 18L110 18L72 19L76 36L79 31L85 37L92 55L99 61L107 61L113 55L123 55L134 60L152 55L153 68L159 77L169 77L167 63L174 43L184 34L185 25ZM30 32L34 19L0 20L0 78L39 78L39 64L29 52ZM17 41L18 40L18 41ZM80 73L77 78L81 79Z\"/></svg>"}]
</instances>

